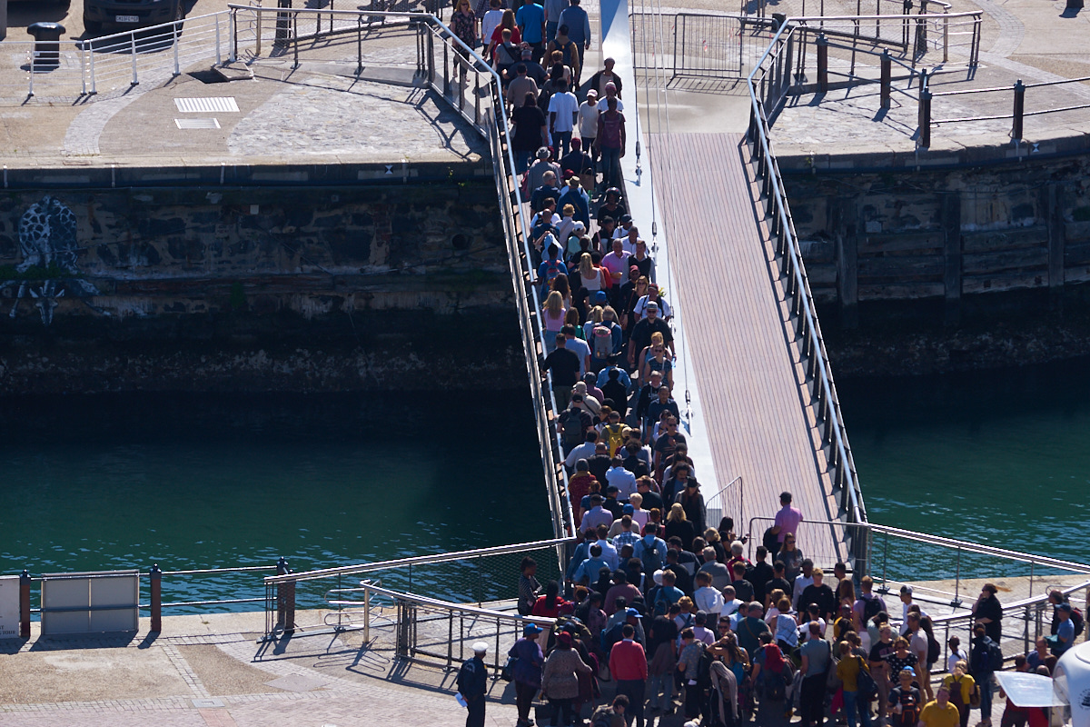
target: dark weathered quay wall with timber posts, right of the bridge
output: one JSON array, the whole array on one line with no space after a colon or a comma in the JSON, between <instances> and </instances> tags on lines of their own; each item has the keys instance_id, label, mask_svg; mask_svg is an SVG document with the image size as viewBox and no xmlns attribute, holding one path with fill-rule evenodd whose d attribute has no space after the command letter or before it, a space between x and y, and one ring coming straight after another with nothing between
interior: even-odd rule
<instances>
[{"instance_id":1,"label":"dark weathered quay wall with timber posts, right of the bridge","mask_svg":"<svg viewBox=\"0 0 1090 727\"><path fill-rule=\"evenodd\" d=\"M1003 307L1004 296L976 298L983 293L1039 291L1047 307L1065 286L1090 280L1087 155L945 171L796 171L785 181L814 296L849 326L891 301L935 301L948 323Z\"/></svg>"}]
</instances>

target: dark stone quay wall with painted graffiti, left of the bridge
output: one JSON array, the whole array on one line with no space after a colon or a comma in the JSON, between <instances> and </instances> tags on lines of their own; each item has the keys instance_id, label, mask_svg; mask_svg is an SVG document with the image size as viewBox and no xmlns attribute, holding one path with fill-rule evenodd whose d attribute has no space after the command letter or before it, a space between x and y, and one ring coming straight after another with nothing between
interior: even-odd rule
<instances>
[{"instance_id":1,"label":"dark stone quay wall with painted graffiti, left of the bridge","mask_svg":"<svg viewBox=\"0 0 1090 727\"><path fill-rule=\"evenodd\" d=\"M0 395L525 386L491 177L401 181L0 193Z\"/></svg>"}]
</instances>

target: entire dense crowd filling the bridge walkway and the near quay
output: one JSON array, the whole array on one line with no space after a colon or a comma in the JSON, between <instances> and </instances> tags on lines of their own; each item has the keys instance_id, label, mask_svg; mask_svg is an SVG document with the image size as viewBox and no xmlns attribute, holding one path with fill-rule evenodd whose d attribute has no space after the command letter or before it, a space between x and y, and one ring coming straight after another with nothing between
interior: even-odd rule
<instances>
[{"instance_id":1,"label":"entire dense crowd filling the bridge walkway and the near quay","mask_svg":"<svg viewBox=\"0 0 1090 727\"><path fill-rule=\"evenodd\" d=\"M582 724L606 678L617 695L591 712L593 727L643 727L678 708L707 727L792 716L803 727L967 727L979 708L990 727L1004 663L993 584L972 607L968 651L952 637L944 661L910 586L892 615L870 578L852 580L844 564L826 575L803 555L790 493L753 561L730 518L706 522L673 396L673 313L620 189L622 83L613 59L584 81L580 0L457 0L450 27L502 78L578 531L562 579L543 586L522 562L519 613L555 627L528 625L508 653L518 727L534 724L538 693L538 714ZM1081 633L1078 609L1052 597L1053 634L1016 669L1051 673ZM484 724L487 644L474 650L458 679L469 727ZM1008 702L1002 724L1042 718Z\"/></svg>"}]
</instances>

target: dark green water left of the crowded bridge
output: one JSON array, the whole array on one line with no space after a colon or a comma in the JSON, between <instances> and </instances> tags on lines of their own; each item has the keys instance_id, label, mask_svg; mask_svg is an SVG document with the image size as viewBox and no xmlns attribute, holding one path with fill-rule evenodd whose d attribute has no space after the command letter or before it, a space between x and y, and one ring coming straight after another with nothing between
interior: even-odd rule
<instances>
[{"instance_id":1,"label":"dark green water left of the crowded bridge","mask_svg":"<svg viewBox=\"0 0 1090 727\"><path fill-rule=\"evenodd\" d=\"M8 399L0 461L0 573L304 570L552 537L522 391ZM264 594L253 575L164 587Z\"/></svg>"}]
</instances>

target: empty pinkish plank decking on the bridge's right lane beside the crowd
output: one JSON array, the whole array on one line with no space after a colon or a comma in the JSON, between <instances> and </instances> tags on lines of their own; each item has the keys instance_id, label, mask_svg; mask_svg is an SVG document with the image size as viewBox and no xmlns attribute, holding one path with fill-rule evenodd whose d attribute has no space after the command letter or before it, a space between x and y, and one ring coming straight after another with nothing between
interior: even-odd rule
<instances>
[{"instance_id":1,"label":"empty pinkish plank decking on the bridge's right lane beside the crowd","mask_svg":"<svg viewBox=\"0 0 1090 727\"><path fill-rule=\"evenodd\" d=\"M837 506L803 404L798 352L785 332L784 294L770 272L773 250L754 217L740 142L740 134L658 134L647 146L697 413L705 420L720 485L743 477L746 522L736 528L744 532L751 517L775 514L784 489L808 520L832 519ZM828 538L800 538L799 546L804 554L836 552Z\"/></svg>"}]
</instances>

